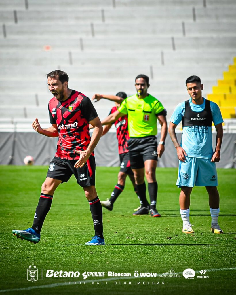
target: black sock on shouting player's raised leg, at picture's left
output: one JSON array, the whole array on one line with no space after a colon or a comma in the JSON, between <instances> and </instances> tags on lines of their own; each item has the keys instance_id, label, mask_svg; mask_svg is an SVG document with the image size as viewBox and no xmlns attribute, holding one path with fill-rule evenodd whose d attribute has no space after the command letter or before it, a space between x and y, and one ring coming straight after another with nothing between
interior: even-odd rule
<instances>
[{"instance_id":1,"label":"black sock on shouting player's raised leg, at picture's left","mask_svg":"<svg viewBox=\"0 0 236 295\"><path fill-rule=\"evenodd\" d=\"M32 229L40 234L44 219L49 212L52 204L53 196L47 194L40 194L38 206L36 207L35 214L34 214L34 223L32 225Z\"/></svg>"}]
</instances>

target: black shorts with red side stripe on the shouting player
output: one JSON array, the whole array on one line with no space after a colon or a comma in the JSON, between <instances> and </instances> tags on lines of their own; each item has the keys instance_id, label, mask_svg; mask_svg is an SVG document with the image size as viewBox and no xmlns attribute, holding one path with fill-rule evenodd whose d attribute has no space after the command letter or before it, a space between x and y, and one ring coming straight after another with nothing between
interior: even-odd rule
<instances>
[{"instance_id":1,"label":"black shorts with red side stripe on the shouting player","mask_svg":"<svg viewBox=\"0 0 236 295\"><path fill-rule=\"evenodd\" d=\"M95 185L95 158L90 156L82 168L75 168L77 160L66 160L54 157L49 165L47 177L67 182L74 174L77 183L84 186Z\"/></svg>"}]
</instances>

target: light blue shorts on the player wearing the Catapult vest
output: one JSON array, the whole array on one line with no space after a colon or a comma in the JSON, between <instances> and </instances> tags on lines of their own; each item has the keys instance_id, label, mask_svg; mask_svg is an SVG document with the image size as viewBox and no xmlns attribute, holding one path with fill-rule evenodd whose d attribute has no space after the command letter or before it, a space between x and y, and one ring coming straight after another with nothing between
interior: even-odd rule
<instances>
[{"instance_id":1,"label":"light blue shorts on the player wearing the Catapult vest","mask_svg":"<svg viewBox=\"0 0 236 295\"><path fill-rule=\"evenodd\" d=\"M217 186L216 164L211 159L186 157L185 163L179 161L176 185L181 186Z\"/></svg>"}]
</instances>

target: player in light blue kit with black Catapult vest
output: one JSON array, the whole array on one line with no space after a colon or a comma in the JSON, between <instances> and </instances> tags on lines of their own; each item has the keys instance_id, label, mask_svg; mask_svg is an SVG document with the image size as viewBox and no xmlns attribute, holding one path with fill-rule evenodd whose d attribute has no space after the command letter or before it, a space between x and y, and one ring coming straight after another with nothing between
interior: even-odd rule
<instances>
[{"instance_id":1,"label":"player in light blue kit with black Catapult vest","mask_svg":"<svg viewBox=\"0 0 236 295\"><path fill-rule=\"evenodd\" d=\"M223 138L223 119L217 104L202 97L203 85L197 76L186 80L191 98L178 104L171 116L169 134L179 159L176 185L181 187L179 195L183 233L194 233L189 222L190 194L194 185L205 186L209 195L212 218L211 231L223 233L218 224L220 196L215 162L220 161ZM175 128L182 121L183 133L179 144ZM216 147L212 149L212 122L216 128Z\"/></svg>"}]
</instances>

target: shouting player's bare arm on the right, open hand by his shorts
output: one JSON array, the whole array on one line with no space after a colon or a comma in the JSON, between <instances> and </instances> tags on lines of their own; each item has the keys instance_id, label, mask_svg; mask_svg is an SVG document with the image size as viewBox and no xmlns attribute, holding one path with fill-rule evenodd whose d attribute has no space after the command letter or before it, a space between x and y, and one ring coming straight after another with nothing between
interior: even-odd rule
<instances>
[{"instance_id":1,"label":"shouting player's bare arm on the right, open hand by his shorts","mask_svg":"<svg viewBox=\"0 0 236 295\"><path fill-rule=\"evenodd\" d=\"M103 126L99 117L96 117L95 119L91 120L89 124L93 126L93 129L94 129L93 134L92 134L90 143L88 145L88 148L86 150L83 150L83 151L75 150L75 153L80 155L79 160L74 165L75 168L83 167L83 165L86 163L86 161L90 157L91 153L95 149L95 146L98 144L100 137L103 134Z\"/></svg>"}]
</instances>

